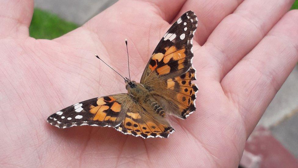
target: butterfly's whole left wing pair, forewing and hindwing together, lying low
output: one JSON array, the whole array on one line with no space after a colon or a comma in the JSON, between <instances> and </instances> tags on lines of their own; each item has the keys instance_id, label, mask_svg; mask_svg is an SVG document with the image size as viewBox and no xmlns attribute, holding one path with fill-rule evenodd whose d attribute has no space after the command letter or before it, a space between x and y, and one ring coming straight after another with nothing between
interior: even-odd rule
<instances>
[{"instance_id":1,"label":"butterfly's whole left wing pair, forewing and hindwing together, lying low","mask_svg":"<svg viewBox=\"0 0 298 168\"><path fill-rule=\"evenodd\" d=\"M58 128L110 126L143 138L168 137L174 131L164 118L146 111L138 100L126 93L76 103L50 115L47 121Z\"/></svg>"}]
</instances>

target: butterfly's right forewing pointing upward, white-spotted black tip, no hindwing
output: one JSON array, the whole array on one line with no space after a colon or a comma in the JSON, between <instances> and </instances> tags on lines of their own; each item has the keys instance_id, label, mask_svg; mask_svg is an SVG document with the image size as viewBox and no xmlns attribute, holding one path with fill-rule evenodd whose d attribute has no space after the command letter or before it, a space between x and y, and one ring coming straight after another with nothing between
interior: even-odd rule
<instances>
[{"instance_id":1,"label":"butterfly's right forewing pointing upward, white-spotted black tip, no hindwing","mask_svg":"<svg viewBox=\"0 0 298 168\"><path fill-rule=\"evenodd\" d=\"M151 55L141 77L141 83L145 83L152 72L165 78L187 72L194 56L192 38L197 23L196 15L188 11L169 28Z\"/></svg>"}]
</instances>

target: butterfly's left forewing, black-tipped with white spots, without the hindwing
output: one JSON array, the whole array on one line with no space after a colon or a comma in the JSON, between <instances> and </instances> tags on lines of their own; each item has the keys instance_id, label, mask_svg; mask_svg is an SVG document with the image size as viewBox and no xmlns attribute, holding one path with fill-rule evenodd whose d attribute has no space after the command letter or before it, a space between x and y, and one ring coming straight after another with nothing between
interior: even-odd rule
<instances>
[{"instance_id":1,"label":"butterfly's left forewing, black-tipped with white spots, without the hindwing","mask_svg":"<svg viewBox=\"0 0 298 168\"><path fill-rule=\"evenodd\" d=\"M47 121L58 128L118 126L125 118L127 97L128 94L123 93L89 99L50 115Z\"/></svg>"}]
</instances>

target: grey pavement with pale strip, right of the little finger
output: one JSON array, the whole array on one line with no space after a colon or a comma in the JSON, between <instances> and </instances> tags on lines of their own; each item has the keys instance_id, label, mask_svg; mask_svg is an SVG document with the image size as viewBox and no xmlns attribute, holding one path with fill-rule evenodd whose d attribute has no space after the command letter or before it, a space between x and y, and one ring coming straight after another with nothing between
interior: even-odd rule
<instances>
[{"instance_id":1,"label":"grey pavement with pale strip, right of the little finger","mask_svg":"<svg viewBox=\"0 0 298 168\"><path fill-rule=\"evenodd\" d=\"M298 159L298 66L275 95L258 125L271 130Z\"/></svg>"}]
</instances>

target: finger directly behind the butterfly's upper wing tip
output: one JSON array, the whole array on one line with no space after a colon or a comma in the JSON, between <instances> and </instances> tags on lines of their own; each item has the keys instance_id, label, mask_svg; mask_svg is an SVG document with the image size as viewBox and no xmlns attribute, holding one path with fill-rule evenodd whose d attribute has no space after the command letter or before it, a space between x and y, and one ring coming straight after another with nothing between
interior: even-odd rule
<instances>
[{"instance_id":1,"label":"finger directly behind the butterfly's upper wing tip","mask_svg":"<svg viewBox=\"0 0 298 168\"><path fill-rule=\"evenodd\" d=\"M201 46L216 26L226 17L233 13L243 0L188 0L177 18L188 10L194 11L198 17L198 29L194 39Z\"/></svg>"}]
</instances>

